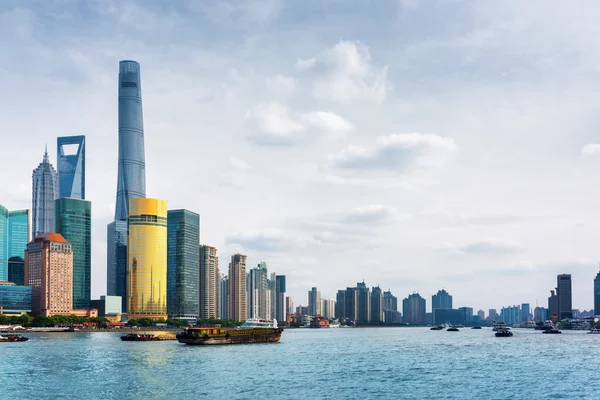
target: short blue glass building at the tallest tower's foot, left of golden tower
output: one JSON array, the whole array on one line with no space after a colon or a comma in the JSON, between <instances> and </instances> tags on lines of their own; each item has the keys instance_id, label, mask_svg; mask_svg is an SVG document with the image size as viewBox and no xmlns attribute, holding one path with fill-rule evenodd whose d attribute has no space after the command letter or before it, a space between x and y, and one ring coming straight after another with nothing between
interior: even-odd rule
<instances>
[{"instance_id":1,"label":"short blue glass building at the tallest tower's foot, left of golden tower","mask_svg":"<svg viewBox=\"0 0 600 400\"><path fill-rule=\"evenodd\" d=\"M127 221L113 221L107 226L106 293L121 298L127 312Z\"/></svg>"}]
</instances>

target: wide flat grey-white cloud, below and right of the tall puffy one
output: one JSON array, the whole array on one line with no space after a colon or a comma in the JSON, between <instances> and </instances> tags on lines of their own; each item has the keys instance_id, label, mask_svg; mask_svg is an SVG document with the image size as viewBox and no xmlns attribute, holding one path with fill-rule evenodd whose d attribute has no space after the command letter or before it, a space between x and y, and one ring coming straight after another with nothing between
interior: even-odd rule
<instances>
[{"instance_id":1,"label":"wide flat grey-white cloud, below and right of the tall puffy one","mask_svg":"<svg viewBox=\"0 0 600 400\"><path fill-rule=\"evenodd\" d=\"M454 140L434 134L407 133L381 136L374 146L350 145L327 157L344 170L398 171L411 167L440 167L458 150Z\"/></svg>"}]
</instances>

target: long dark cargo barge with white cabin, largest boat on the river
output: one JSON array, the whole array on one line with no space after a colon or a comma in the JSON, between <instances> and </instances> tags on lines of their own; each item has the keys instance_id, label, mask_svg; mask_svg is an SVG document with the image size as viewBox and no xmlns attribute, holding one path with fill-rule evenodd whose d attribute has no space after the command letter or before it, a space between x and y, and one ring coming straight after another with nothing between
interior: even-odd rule
<instances>
[{"instance_id":1,"label":"long dark cargo barge with white cabin, largest boat on the river","mask_svg":"<svg viewBox=\"0 0 600 400\"><path fill-rule=\"evenodd\" d=\"M220 324L187 328L177 335L177 340L192 345L276 343L282 333L277 320L252 318L235 329L222 328Z\"/></svg>"}]
</instances>

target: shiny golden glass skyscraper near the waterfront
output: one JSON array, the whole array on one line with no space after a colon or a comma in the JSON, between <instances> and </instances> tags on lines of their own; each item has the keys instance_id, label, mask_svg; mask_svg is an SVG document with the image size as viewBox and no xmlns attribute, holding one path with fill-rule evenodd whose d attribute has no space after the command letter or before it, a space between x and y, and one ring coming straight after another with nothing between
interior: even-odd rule
<instances>
[{"instance_id":1,"label":"shiny golden glass skyscraper near the waterfront","mask_svg":"<svg viewBox=\"0 0 600 400\"><path fill-rule=\"evenodd\" d=\"M129 199L128 317L167 318L167 202Z\"/></svg>"}]
</instances>

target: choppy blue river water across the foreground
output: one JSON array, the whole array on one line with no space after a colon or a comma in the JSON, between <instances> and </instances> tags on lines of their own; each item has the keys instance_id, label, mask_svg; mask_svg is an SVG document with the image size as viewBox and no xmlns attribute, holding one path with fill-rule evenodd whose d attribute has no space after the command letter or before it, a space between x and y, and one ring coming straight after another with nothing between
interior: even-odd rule
<instances>
[{"instance_id":1,"label":"choppy blue river water across the foreground","mask_svg":"<svg viewBox=\"0 0 600 400\"><path fill-rule=\"evenodd\" d=\"M290 329L277 344L210 347L29 334L0 344L0 398L598 398L600 335L514 332Z\"/></svg>"}]
</instances>

